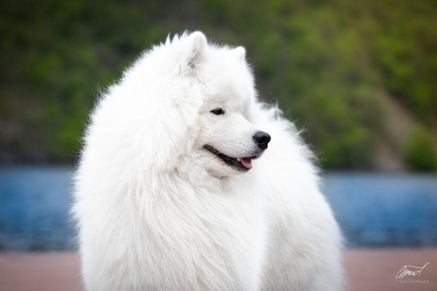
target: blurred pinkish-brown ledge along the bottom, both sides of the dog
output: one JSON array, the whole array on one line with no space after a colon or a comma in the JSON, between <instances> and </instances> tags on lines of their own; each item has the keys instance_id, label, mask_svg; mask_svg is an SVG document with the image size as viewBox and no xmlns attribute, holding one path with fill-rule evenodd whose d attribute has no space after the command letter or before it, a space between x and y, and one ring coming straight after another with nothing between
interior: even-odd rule
<instances>
[{"instance_id":1,"label":"blurred pinkish-brown ledge along the bottom, both sides of the dog","mask_svg":"<svg viewBox=\"0 0 437 291\"><path fill-rule=\"evenodd\" d=\"M425 267L419 276L403 280L429 283L396 283L404 265ZM349 249L345 267L350 291L436 291L437 248ZM80 291L80 261L75 253L0 253L0 290Z\"/></svg>"}]
</instances>

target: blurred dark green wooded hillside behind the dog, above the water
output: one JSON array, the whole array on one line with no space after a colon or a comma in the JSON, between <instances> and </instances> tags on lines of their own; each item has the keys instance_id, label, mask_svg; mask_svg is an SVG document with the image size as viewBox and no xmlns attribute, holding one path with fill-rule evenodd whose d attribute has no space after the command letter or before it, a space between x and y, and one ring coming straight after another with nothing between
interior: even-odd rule
<instances>
[{"instance_id":1,"label":"blurred dark green wooded hillside behind the dog, above the water","mask_svg":"<svg viewBox=\"0 0 437 291\"><path fill-rule=\"evenodd\" d=\"M323 166L377 167L382 141L409 168L436 168L434 0L17 0L1 6L1 161L73 161L99 89L168 32L201 29L247 48L261 95L278 100L306 129ZM387 96L418 125L408 142L387 128L381 101Z\"/></svg>"}]
</instances>

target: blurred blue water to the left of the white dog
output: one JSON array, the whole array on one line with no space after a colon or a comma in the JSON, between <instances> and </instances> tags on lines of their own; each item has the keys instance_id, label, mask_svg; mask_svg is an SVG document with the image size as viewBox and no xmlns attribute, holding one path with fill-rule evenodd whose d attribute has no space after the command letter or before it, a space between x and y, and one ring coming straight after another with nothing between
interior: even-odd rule
<instances>
[{"instance_id":1,"label":"blurred blue water to the left of the white dog","mask_svg":"<svg viewBox=\"0 0 437 291\"><path fill-rule=\"evenodd\" d=\"M71 167L0 168L0 251L73 249Z\"/></svg>"}]
</instances>

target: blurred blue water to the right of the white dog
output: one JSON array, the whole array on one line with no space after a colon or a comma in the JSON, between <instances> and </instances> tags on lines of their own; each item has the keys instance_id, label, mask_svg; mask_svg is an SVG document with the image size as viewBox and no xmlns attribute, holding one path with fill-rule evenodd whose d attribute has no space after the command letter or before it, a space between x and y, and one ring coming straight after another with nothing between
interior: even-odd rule
<instances>
[{"instance_id":1,"label":"blurred blue water to the right of the white dog","mask_svg":"<svg viewBox=\"0 0 437 291\"><path fill-rule=\"evenodd\" d=\"M323 191L348 246L437 245L437 176L328 174Z\"/></svg>"}]
</instances>

